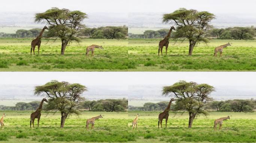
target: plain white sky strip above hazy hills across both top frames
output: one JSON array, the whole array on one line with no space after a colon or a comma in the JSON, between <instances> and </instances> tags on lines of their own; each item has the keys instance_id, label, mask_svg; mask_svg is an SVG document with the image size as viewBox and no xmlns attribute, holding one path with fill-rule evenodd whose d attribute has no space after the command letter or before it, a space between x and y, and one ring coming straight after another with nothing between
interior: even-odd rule
<instances>
[{"instance_id":1,"label":"plain white sky strip above hazy hills across both top frames","mask_svg":"<svg viewBox=\"0 0 256 143\"><path fill-rule=\"evenodd\" d=\"M51 7L83 12L173 12L180 7L212 13L256 13L255 0L4 0L0 11L34 12Z\"/></svg>"}]
</instances>

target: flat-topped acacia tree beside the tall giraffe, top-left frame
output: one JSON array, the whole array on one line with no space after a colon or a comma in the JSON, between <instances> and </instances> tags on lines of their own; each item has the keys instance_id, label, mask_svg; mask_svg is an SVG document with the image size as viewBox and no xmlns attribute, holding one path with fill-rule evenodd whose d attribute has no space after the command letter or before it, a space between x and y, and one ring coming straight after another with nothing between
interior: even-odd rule
<instances>
[{"instance_id":1,"label":"flat-topped acacia tree beside the tall giraffe, top-left frame","mask_svg":"<svg viewBox=\"0 0 256 143\"><path fill-rule=\"evenodd\" d=\"M86 13L79 10L58 9L52 7L46 12L36 13L35 22L42 22L49 25L47 38L58 37L61 39L61 55L64 55L65 48L71 41L80 42L79 32L84 28L83 20L88 18Z\"/></svg>"}]
</instances>

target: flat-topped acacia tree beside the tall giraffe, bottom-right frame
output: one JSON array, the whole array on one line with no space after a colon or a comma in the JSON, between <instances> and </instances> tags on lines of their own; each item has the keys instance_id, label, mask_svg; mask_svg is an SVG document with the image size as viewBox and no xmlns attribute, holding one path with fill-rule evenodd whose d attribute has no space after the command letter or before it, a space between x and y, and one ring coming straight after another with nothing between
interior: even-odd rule
<instances>
[{"instance_id":1,"label":"flat-topped acacia tree beside the tall giraffe, bottom-right frame","mask_svg":"<svg viewBox=\"0 0 256 143\"><path fill-rule=\"evenodd\" d=\"M210 97L214 87L207 84L198 84L195 82L179 81L172 86L164 86L162 95L173 96L176 98L174 110L185 110L189 113L189 128L192 127L193 120L199 114L207 115L205 109L207 103L213 99Z\"/></svg>"}]
</instances>

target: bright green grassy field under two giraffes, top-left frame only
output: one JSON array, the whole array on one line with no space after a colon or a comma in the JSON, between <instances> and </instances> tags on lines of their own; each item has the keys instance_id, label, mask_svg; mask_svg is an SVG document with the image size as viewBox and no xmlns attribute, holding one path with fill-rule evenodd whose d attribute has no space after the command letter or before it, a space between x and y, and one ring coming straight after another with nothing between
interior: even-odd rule
<instances>
[{"instance_id":1,"label":"bright green grassy field under two giraffes, top-left frame only","mask_svg":"<svg viewBox=\"0 0 256 143\"><path fill-rule=\"evenodd\" d=\"M128 40L83 39L68 45L64 56L60 55L60 40L42 41L40 55L31 56L31 40L0 39L0 71L125 71L132 66ZM92 44L104 50L96 49L94 57L86 57L86 47Z\"/></svg>"}]
</instances>

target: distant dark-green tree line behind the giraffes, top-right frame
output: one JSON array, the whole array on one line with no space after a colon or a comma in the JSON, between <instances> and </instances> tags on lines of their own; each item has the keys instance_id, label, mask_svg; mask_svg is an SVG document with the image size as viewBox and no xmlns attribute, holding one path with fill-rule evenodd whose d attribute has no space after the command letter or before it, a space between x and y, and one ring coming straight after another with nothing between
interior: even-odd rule
<instances>
[{"instance_id":1,"label":"distant dark-green tree line behind the giraffes, top-right frame","mask_svg":"<svg viewBox=\"0 0 256 143\"><path fill-rule=\"evenodd\" d=\"M146 30L143 34L128 33L129 38L164 38L169 29L160 29L158 31ZM175 31L173 31L174 33ZM235 39L235 40L253 40L256 36L256 28L251 27L229 27L229 28L213 28L206 34L209 37L217 39ZM172 35L171 35L172 36Z\"/></svg>"}]
</instances>

